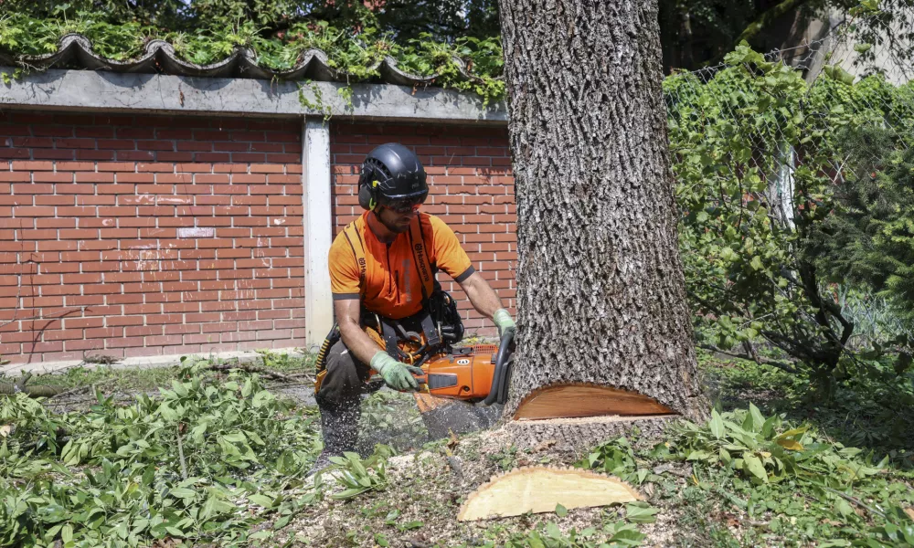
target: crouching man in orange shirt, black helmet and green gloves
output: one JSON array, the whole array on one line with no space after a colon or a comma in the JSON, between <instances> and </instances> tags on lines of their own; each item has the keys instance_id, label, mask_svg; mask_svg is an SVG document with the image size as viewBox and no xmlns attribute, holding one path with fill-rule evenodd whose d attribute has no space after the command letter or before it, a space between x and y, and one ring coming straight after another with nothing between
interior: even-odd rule
<instances>
[{"instance_id":1,"label":"crouching man in orange shirt, black helmet and green gloves","mask_svg":"<svg viewBox=\"0 0 914 548\"><path fill-rule=\"evenodd\" d=\"M403 362L410 354L402 345L425 348L462 338L456 307L435 279L438 270L460 284L499 335L515 329L452 229L420 212L428 195L425 170L403 145L382 144L362 163L358 203L367 211L330 248L336 325L318 360L324 450L310 473L324 469L330 457L355 450L361 395L372 371L394 390L416 390L413 375L422 372Z\"/></svg>"}]
</instances>

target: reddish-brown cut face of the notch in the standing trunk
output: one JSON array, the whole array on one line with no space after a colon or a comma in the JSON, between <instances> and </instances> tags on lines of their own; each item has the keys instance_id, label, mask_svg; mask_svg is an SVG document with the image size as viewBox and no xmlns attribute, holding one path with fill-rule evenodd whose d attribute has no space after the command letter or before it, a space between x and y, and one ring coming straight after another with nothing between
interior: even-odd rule
<instances>
[{"instance_id":1,"label":"reddish-brown cut face of the notch in the standing trunk","mask_svg":"<svg viewBox=\"0 0 914 548\"><path fill-rule=\"evenodd\" d=\"M581 418L586 416L675 415L652 397L590 384L550 385L527 395L514 420Z\"/></svg>"}]
</instances>

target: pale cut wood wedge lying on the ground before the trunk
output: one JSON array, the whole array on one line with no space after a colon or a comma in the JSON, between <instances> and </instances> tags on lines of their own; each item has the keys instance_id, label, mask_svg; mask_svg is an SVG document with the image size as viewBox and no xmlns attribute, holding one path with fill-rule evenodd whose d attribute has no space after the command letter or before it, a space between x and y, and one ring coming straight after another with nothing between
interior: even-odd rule
<instances>
[{"instance_id":1,"label":"pale cut wood wedge lying on the ground before the trunk","mask_svg":"<svg viewBox=\"0 0 914 548\"><path fill-rule=\"evenodd\" d=\"M638 492L620 479L590 470L527 467L494 476L473 491L463 503L457 520L473 522L519 516L526 512L608 506L642 500Z\"/></svg>"}]
</instances>

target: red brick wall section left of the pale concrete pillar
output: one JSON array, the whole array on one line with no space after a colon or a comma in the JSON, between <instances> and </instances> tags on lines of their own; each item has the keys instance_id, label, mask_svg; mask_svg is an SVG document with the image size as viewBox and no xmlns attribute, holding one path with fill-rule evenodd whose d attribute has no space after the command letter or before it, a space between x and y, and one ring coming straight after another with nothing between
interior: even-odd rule
<instances>
[{"instance_id":1,"label":"red brick wall section left of the pale concrete pillar","mask_svg":"<svg viewBox=\"0 0 914 548\"><path fill-rule=\"evenodd\" d=\"M0 113L0 355L302 344L301 146L299 120Z\"/></svg>"}]
</instances>

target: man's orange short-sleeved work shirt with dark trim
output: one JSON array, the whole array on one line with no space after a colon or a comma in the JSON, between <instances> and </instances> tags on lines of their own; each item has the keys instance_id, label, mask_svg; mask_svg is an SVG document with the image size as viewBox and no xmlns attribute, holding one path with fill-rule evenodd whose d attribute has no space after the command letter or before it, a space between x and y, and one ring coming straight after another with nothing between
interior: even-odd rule
<instances>
[{"instance_id":1,"label":"man's orange short-sleeved work shirt with dark trim","mask_svg":"<svg viewBox=\"0 0 914 548\"><path fill-rule=\"evenodd\" d=\"M365 212L350 224L355 229L355 238L347 237L346 233L353 233L347 227L336 235L330 246L330 285L334 300L364 296L362 303L369 311L394 320L422 310L423 283L410 247L410 235L415 234L416 223L420 223L423 247L428 250L432 272L444 270L460 283L475 271L460 240L438 217L420 212L412 220L409 231L385 244L368 227L369 214ZM361 269L356 248L365 256L364 288L359 285Z\"/></svg>"}]
</instances>

